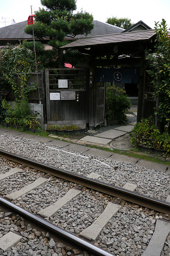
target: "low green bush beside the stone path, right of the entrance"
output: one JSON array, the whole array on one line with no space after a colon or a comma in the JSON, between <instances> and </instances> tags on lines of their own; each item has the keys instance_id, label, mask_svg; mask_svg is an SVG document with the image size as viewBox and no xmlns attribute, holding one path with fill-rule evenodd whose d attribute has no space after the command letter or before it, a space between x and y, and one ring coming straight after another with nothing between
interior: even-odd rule
<instances>
[{"instance_id":1,"label":"low green bush beside the stone path, right of the entrance","mask_svg":"<svg viewBox=\"0 0 170 256\"><path fill-rule=\"evenodd\" d=\"M166 121L166 128L168 128L169 119L166 119ZM167 153L170 153L170 136L168 130L166 129L164 133L160 133L160 131L156 129L152 117L142 119L141 122L136 123L130 136L134 146L141 144L142 146L166 150Z\"/></svg>"}]
</instances>

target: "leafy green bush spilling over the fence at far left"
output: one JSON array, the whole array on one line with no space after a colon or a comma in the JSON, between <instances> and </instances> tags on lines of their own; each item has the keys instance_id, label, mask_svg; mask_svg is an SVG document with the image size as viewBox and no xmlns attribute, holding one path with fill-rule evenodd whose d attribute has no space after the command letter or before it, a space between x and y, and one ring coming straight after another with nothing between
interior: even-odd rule
<instances>
[{"instance_id":1,"label":"leafy green bush spilling over the fence at far left","mask_svg":"<svg viewBox=\"0 0 170 256\"><path fill-rule=\"evenodd\" d=\"M31 50L22 45L8 44L0 52L0 65L3 66L2 74L10 84L16 101L28 98L28 94L35 90L37 85L27 84L30 72L35 72L35 60ZM17 78L19 79L19 84Z\"/></svg>"}]
</instances>

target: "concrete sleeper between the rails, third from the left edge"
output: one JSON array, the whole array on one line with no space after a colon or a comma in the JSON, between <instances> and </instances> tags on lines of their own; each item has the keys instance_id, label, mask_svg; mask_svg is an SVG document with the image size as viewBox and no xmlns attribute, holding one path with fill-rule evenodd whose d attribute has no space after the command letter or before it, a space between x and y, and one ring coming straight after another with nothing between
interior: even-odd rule
<instances>
[{"instance_id":1,"label":"concrete sleeper between the rails, third from the left edge","mask_svg":"<svg viewBox=\"0 0 170 256\"><path fill-rule=\"evenodd\" d=\"M39 215L43 217L51 217L56 214L56 212L65 204L67 204L70 200L77 197L81 194L81 190L79 189L70 189L61 199L59 199L56 203L42 209L38 212Z\"/></svg>"}]
</instances>

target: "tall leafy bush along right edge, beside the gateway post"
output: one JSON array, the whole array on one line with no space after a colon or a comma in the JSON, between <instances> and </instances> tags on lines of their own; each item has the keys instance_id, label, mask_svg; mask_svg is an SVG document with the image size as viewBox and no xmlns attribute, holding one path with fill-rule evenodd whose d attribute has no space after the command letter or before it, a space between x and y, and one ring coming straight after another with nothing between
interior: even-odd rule
<instances>
[{"instance_id":1,"label":"tall leafy bush along right edge, beside the gateway post","mask_svg":"<svg viewBox=\"0 0 170 256\"><path fill-rule=\"evenodd\" d=\"M165 20L155 24L156 40L155 50L148 51L148 73L154 86L153 97L159 99L159 105L155 108L155 114L161 123L165 125L170 118L170 34Z\"/></svg>"}]
</instances>

